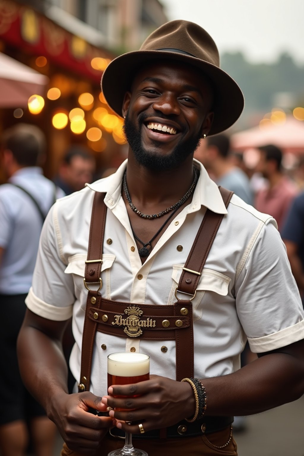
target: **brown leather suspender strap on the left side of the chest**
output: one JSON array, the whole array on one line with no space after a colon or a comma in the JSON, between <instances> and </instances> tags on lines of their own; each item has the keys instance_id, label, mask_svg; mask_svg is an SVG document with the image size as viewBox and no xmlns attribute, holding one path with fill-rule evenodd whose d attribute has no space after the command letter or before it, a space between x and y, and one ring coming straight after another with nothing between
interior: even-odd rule
<instances>
[{"instance_id":1,"label":"brown leather suspender strap on the left side of the chest","mask_svg":"<svg viewBox=\"0 0 304 456\"><path fill-rule=\"evenodd\" d=\"M92 306L96 307L97 309L99 308L101 298L101 295L99 293L99 290L102 287L100 271L103 255L104 227L107 215L107 206L103 202L104 197L105 193L96 192L93 200L88 244L88 258L86 261L85 275L83 279L84 285L88 289L88 298L82 334L81 371L80 383L78 384L79 392L85 390L88 391L90 388L96 322L88 318L88 313L90 307ZM98 285L98 290L91 290L90 285Z\"/></svg>"}]
</instances>

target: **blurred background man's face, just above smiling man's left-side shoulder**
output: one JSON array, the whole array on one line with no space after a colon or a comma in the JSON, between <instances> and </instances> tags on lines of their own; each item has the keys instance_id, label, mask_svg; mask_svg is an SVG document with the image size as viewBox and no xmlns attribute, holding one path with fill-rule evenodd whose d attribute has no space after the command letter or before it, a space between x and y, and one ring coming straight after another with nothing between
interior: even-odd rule
<instances>
[{"instance_id":1,"label":"blurred background man's face, just above smiling man's left-side shoulder","mask_svg":"<svg viewBox=\"0 0 304 456\"><path fill-rule=\"evenodd\" d=\"M76 192L81 190L87 182L92 182L94 171L93 159L84 159L75 155L70 164L64 165L62 168L62 178Z\"/></svg>"}]
</instances>

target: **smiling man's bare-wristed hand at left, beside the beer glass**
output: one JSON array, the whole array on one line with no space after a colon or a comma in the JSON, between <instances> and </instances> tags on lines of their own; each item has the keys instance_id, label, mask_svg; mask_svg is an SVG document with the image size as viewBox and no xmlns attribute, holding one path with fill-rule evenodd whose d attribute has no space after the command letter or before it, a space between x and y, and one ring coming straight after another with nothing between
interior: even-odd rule
<instances>
[{"instance_id":1,"label":"smiling man's bare-wristed hand at left, beside the beer glass","mask_svg":"<svg viewBox=\"0 0 304 456\"><path fill-rule=\"evenodd\" d=\"M83 455L96 455L103 446L103 437L113 420L107 416L97 416L90 409L107 410L101 398L90 392L78 394L58 394L52 404L49 418L55 422L63 440L72 451Z\"/></svg>"}]
</instances>

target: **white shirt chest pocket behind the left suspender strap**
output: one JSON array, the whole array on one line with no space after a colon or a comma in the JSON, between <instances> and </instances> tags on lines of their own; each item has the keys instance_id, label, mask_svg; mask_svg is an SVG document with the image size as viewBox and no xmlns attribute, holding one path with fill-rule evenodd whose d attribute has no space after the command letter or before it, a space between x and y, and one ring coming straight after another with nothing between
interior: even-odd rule
<instances>
[{"instance_id":1,"label":"white shirt chest pocket behind the left suspender strap","mask_svg":"<svg viewBox=\"0 0 304 456\"><path fill-rule=\"evenodd\" d=\"M116 256L110 254L103 254L103 262L101 264L101 278L103 280L101 293L103 297L110 299L111 288L110 288L110 273ZM86 306L88 290L85 288L83 283L86 255L77 254L72 255L68 259L68 265L65 269L65 274L71 274L74 282L74 293L81 302L81 307L84 309ZM94 285L92 285L92 288ZM96 288L97 289L97 288Z\"/></svg>"}]
</instances>

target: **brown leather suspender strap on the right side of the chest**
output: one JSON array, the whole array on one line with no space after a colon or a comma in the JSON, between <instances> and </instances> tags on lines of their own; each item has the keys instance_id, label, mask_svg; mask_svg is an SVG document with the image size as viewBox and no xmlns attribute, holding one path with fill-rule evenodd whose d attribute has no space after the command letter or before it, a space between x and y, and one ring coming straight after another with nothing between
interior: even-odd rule
<instances>
[{"instance_id":1,"label":"brown leather suspender strap on the right side of the chest","mask_svg":"<svg viewBox=\"0 0 304 456\"><path fill-rule=\"evenodd\" d=\"M223 187L219 187L219 190L227 207L233 192ZM216 214L209 209L206 210L175 291L175 296L178 300L174 305L176 317L187 315L190 317L191 322L193 321L191 301L196 294L197 283L223 217L224 214ZM180 300L178 298L179 292L190 295L190 297L188 300ZM176 320L175 325L178 326L179 324L179 320ZM175 330L175 341L176 380L180 381L185 377L194 377L193 324L183 331Z\"/></svg>"}]
</instances>

